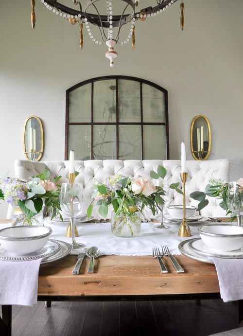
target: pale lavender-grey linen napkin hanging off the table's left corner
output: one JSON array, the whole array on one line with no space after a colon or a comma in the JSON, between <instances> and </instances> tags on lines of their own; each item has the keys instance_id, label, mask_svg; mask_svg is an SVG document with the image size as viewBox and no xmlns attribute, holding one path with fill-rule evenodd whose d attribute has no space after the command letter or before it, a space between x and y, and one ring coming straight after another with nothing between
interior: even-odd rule
<instances>
[{"instance_id":1,"label":"pale lavender-grey linen napkin hanging off the table's left corner","mask_svg":"<svg viewBox=\"0 0 243 336\"><path fill-rule=\"evenodd\" d=\"M0 304L33 306L37 303L41 260L0 260Z\"/></svg>"}]
</instances>

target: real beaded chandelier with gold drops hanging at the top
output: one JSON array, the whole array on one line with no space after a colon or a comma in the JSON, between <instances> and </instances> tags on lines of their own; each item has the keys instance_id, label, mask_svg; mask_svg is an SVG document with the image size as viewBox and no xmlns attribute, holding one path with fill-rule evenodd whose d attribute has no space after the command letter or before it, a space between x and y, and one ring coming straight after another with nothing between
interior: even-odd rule
<instances>
[{"instance_id":1,"label":"real beaded chandelier with gold drops hanging at the top","mask_svg":"<svg viewBox=\"0 0 243 336\"><path fill-rule=\"evenodd\" d=\"M151 0L152 1L152 0ZM177 0L154 0L154 7L141 8L135 11L135 7L138 7L139 0L115 0L116 6L114 8L111 0L106 1L106 6L104 5L104 0L87 0L82 8L82 4L77 0L40 0L46 8L52 11L53 14L60 16L70 22L72 25L79 25L79 44L80 48L83 48L83 27L85 25L87 33L92 41L97 45L106 44L108 47L108 52L105 53L105 57L110 60L110 66L114 66L114 58L117 57L117 52L114 51L114 46L119 43L121 46L126 45L130 40L132 41L132 48L135 48L135 22L140 20L144 21L146 18L154 17L156 15L161 15L167 8L169 8ZM61 2L65 2L65 5ZM68 7L66 2L69 4L74 4L77 7ZM144 3L144 0L141 0ZM98 9L98 6L104 5L104 8ZM32 13L31 22L32 28L35 28L35 0L31 0ZM101 10L104 10L104 15L100 14ZM115 10L118 10L119 14L115 14ZM184 27L184 3L181 2L181 18L180 25L183 30ZM91 13L90 11L93 10ZM128 31L127 38L124 41L119 42L121 27L127 23L131 23L131 28ZM96 39L94 34L91 32L93 27L96 26L100 30L101 40ZM107 31L105 32L105 28ZM115 34L114 29L117 29Z\"/></svg>"}]
</instances>

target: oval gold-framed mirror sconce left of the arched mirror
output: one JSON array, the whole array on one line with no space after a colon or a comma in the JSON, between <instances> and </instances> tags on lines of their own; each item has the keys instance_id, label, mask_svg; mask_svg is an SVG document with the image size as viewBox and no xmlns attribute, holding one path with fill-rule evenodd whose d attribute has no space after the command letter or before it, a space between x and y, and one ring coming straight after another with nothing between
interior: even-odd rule
<instances>
[{"instance_id":1,"label":"oval gold-framed mirror sconce left of the arched mirror","mask_svg":"<svg viewBox=\"0 0 243 336\"><path fill-rule=\"evenodd\" d=\"M30 116L24 123L23 147L26 159L39 161L43 153L43 127L40 119Z\"/></svg>"}]
</instances>

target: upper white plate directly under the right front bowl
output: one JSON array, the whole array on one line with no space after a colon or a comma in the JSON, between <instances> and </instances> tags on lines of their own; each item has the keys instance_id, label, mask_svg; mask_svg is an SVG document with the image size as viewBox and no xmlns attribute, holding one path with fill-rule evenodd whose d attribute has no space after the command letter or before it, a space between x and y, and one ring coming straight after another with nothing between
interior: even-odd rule
<instances>
[{"instance_id":1,"label":"upper white plate directly under the right front bowl","mask_svg":"<svg viewBox=\"0 0 243 336\"><path fill-rule=\"evenodd\" d=\"M201 238L194 238L189 242L189 248L196 253L207 255L209 257L225 258L225 259L241 259L243 258L243 248L234 251L219 251L214 248L209 248Z\"/></svg>"}]
</instances>

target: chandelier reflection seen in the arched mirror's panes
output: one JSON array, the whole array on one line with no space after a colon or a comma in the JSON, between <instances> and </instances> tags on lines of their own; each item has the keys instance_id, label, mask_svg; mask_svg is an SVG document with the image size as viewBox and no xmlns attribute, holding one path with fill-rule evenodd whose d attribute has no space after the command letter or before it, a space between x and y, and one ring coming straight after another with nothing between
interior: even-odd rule
<instances>
[{"instance_id":1,"label":"chandelier reflection seen in the arched mirror's panes","mask_svg":"<svg viewBox=\"0 0 243 336\"><path fill-rule=\"evenodd\" d=\"M114 98L114 91L116 90L116 86L111 85L109 89L112 91L112 104L109 105L108 103L104 104L103 108L103 118L105 117L105 113L108 114L108 119L106 121L106 124L104 125L104 129L102 129L102 126L99 126L99 139L96 141L96 143L93 143L93 157L94 159L99 159L99 160L107 160L107 159L114 159L114 154L106 153L106 147L107 145L109 146L110 144L116 144L116 141L112 140L106 140L106 132L109 128L109 123L112 122L112 116L116 115L116 103L115 103L115 98ZM123 114L123 107L120 106L118 107L118 110L120 111L120 114ZM90 150L91 147L91 141L88 139L87 135L87 130L85 131L85 141L87 142L87 147ZM139 127L137 126L136 128L136 140L134 142L129 141L126 133L125 133L125 128L124 125L121 125L121 137L119 139L119 147L121 147L121 152L119 154L119 159L124 160L127 158L133 157L136 152L136 149L139 144Z\"/></svg>"}]
</instances>

